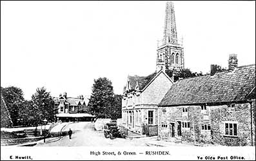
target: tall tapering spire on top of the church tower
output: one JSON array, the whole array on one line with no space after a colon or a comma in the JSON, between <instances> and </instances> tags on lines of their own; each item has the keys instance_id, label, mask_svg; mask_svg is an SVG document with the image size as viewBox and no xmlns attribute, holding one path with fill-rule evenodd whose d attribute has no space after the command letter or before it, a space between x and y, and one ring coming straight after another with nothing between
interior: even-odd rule
<instances>
[{"instance_id":1,"label":"tall tapering spire on top of the church tower","mask_svg":"<svg viewBox=\"0 0 256 161\"><path fill-rule=\"evenodd\" d=\"M164 19L164 37L162 44L177 44L177 31L175 23L174 6L171 1L166 2L165 19Z\"/></svg>"}]
</instances>

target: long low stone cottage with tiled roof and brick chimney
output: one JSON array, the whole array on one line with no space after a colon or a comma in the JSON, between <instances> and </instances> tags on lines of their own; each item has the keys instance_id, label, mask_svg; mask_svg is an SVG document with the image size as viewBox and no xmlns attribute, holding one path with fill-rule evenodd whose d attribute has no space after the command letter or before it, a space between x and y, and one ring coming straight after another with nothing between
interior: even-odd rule
<instances>
[{"instance_id":1,"label":"long low stone cottage with tiled roof and brick chimney","mask_svg":"<svg viewBox=\"0 0 256 161\"><path fill-rule=\"evenodd\" d=\"M177 81L159 104L159 138L255 146L255 64Z\"/></svg>"}]
</instances>

